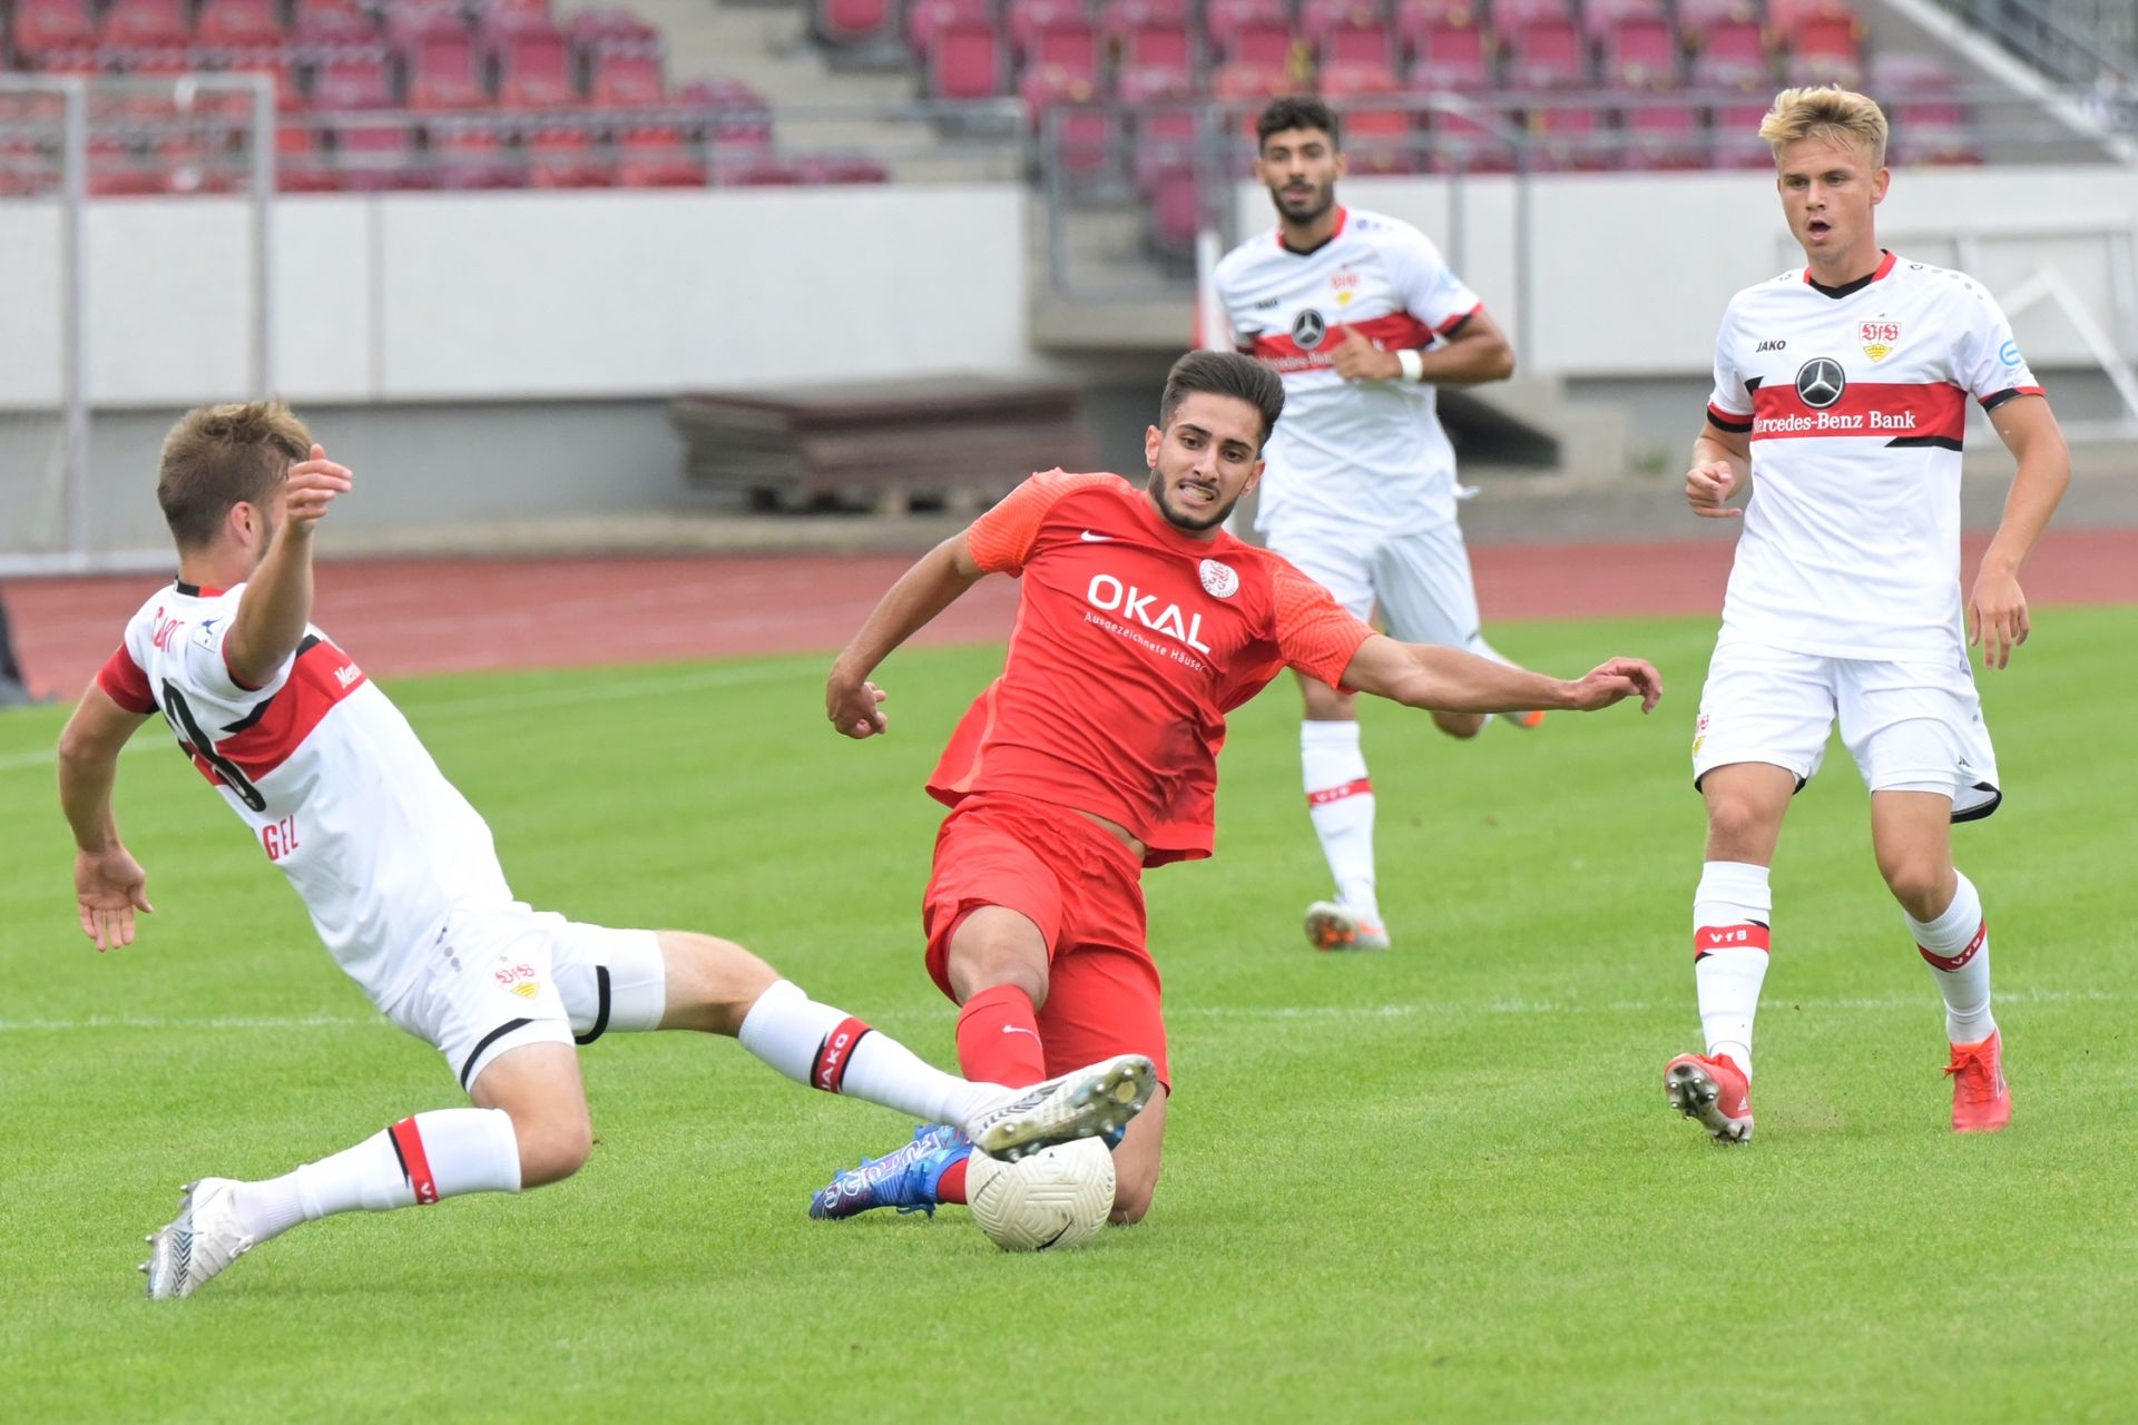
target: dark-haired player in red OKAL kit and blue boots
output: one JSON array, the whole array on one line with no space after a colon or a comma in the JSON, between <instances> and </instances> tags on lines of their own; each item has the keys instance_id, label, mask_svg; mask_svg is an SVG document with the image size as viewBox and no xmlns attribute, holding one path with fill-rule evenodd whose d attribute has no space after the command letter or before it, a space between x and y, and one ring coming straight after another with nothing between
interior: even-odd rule
<instances>
[{"instance_id":1,"label":"dark-haired player in red OKAL kit and blue boots","mask_svg":"<svg viewBox=\"0 0 2138 1425\"><path fill-rule=\"evenodd\" d=\"M1210 855L1225 714L1287 667L1471 714L1627 696L1648 709L1661 696L1638 658L1561 682L1398 643L1281 555L1225 534L1283 408L1281 378L1251 357L1189 353L1144 434L1142 489L1118 474L1035 474L892 585L825 688L840 733L883 733L877 664L979 577L1024 579L1003 675L928 782L951 808L924 904L928 972L962 1006L969 1075L1037 1083L1054 1062L1114 1047L1157 1064L1161 1087L1114 1152L1116 1222L1150 1207L1172 1083L1140 876ZM840 1173L810 1216L962 1203L969 1152L954 1128L921 1128Z\"/></svg>"}]
</instances>

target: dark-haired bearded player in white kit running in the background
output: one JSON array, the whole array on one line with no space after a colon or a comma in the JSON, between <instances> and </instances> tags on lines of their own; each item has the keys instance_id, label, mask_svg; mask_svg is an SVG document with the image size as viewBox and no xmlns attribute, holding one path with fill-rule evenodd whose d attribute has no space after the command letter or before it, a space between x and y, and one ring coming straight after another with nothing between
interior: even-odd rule
<instances>
[{"instance_id":1,"label":"dark-haired bearded player in white kit running in the background","mask_svg":"<svg viewBox=\"0 0 2138 1425\"><path fill-rule=\"evenodd\" d=\"M1217 267L1240 350L1285 378L1255 528L1355 617L1379 605L1396 639L1505 662L1479 632L1435 387L1505 380L1514 348L1424 233L1336 205L1345 158L1328 105L1279 98L1255 135L1279 224ZM1306 805L1336 880L1336 899L1306 908L1306 936L1323 951L1385 949L1358 703L1304 673L1300 692ZM1544 714L1509 720L1537 726ZM1432 722L1475 737L1490 716Z\"/></svg>"}]
</instances>

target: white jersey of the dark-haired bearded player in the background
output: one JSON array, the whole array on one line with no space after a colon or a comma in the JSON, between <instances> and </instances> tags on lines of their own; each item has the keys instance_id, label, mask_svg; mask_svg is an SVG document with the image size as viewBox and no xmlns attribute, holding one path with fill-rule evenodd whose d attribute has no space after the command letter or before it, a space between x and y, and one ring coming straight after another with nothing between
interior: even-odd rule
<instances>
[{"instance_id":1,"label":"white jersey of the dark-haired bearded player in the background","mask_svg":"<svg viewBox=\"0 0 2138 1425\"><path fill-rule=\"evenodd\" d=\"M1266 451L1255 526L1313 519L1405 534L1454 523L1456 453L1415 380L1336 374L1336 329L1383 350L1422 350L1482 303L1409 222L1336 209L1336 235L1293 252L1281 229L1217 265L1217 297L1240 350L1285 378L1285 414Z\"/></svg>"}]
</instances>

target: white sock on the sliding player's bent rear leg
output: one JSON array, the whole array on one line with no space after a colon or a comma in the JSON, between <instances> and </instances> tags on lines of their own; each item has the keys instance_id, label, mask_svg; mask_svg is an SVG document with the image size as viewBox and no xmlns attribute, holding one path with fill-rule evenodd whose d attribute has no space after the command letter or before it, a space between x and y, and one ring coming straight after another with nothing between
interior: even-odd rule
<instances>
[{"instance_id":1,"label":"white sock on the sliding player's bent rear leg","mask_svg":"<svg viewBox=\"0 0 2138 1425\"><path fill-rule=\"evenodd\" d=\"M239 1184L254 1241L338 1211L389 1211L462 1192L520 1192L520 1134L502 1109L430 1109L295 1173Z\"/></svg>"}]
</instances>

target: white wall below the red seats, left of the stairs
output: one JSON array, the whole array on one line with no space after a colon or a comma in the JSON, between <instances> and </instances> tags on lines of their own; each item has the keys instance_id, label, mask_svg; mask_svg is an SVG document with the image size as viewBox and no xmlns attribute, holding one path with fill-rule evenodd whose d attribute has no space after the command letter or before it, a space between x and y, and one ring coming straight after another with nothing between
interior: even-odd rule
<instances>
[{"instance_id":1,"label":"white wall below the red seats, left of the stairs","mask_svg":"<svg viewBox=\"0 0 2138 1425\"><path fill-rule=\"evenodd\" d=\"M274 385L299 402L669 395L1013 372L1016 186L301 197L276 205ZM88 207L98 406L246 389L250 209ZM0 408L58 400L58 214L0 203Z\"/></svg>"}]
</instances>

